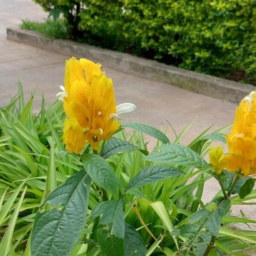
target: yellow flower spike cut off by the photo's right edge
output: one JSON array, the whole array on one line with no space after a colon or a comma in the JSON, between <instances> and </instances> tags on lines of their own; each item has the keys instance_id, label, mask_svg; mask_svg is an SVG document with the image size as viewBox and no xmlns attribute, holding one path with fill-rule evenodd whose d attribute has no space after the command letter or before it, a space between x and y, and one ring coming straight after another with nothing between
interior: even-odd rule
<instances>
[{"instance_id":1,"label":"yellow flower spike cut off by the photo's right edge","mask_svg":"<svg viewBox=\"0 0 256 256\"><path fill-rule=\"evenodd\" d=\"M243 176L256 174L256 91L244 97L236 108L233 127L226 135L226 141L229 154L218 155L218 159L222 159L221 168L241 172ZM211 160L213 152L214 149L209 155L210 163L214 166L215 162ZM214 168L216 172L219 171Z\"/></svg>"}]
</instances>

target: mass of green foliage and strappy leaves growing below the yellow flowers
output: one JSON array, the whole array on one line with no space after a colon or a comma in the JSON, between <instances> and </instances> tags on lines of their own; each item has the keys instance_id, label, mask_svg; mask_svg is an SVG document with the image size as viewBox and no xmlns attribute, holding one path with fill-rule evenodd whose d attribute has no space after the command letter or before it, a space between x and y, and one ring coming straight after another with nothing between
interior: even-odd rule
<instances>
[{"instance_id":1,"label":"mass of green foliage and strappy leaves growing below the yellow flowers","mask_svg":"<svg viewBox=\"0 0 256 256\"><path fill-rule=\"evenodd\" d=\"M185 147L177 143L191 124L175 143L155 128L131 124L129 140L122 130L101 143L101 156L90 147L78 156L64 151L61 102L45 108L43 98L35 115L32 101L24 103L20 84L19 96L0 108L3 256L200 255L212 236L219 253L255 250L255 232L230 225L256 221L229 211L255 204L252 178L232 188L234 177L224 173L220 179L233 195L218 200L220 191L209 204L202 200L212 177L203 156L212 140L223 140L224 128L206 135L208 128ZM150 154L143 132L158 139Z\"/></svg>"}]
</instances>

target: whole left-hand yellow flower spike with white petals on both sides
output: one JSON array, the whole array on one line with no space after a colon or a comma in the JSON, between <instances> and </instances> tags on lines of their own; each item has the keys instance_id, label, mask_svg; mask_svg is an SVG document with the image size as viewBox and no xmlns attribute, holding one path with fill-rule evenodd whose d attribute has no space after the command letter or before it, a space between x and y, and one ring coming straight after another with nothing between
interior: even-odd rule
<instances>
[{"instance_id":1,"label":"whole left-hand yellow flower spike with white petals on both sides","mask_svg":"<svg viewBox=\"0 0 256 256\"><path fill-rule=\"evenodd\" d=\"M86 143L97 150L99 142L110 139L119 128L118 114L136 109L131 103L116 106L112 79L101 67L85 58L66 61L65 87L59 86L62 92L57 97L67 115L63 135L67 151L78 154Z\"/></svg>"}]
</instances>

